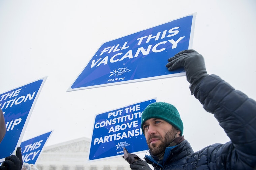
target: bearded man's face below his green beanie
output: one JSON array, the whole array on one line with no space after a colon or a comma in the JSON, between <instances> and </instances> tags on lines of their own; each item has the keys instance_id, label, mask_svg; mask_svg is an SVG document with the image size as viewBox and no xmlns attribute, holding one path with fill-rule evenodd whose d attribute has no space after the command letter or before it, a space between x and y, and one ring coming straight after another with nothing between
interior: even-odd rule
<instances>
[{"instance_id":1,"label":"bearded man's face below his green beanie","mask_svg":"<svg viewBox=\"0 0 256 170\"><path fill-rule=\"evenodd\" d=\"M165 151L173 139L179 137L180 131L168 122L151 118L143 124L144 135L152 155L159 155Z\"/></svg>"}]
</instances>

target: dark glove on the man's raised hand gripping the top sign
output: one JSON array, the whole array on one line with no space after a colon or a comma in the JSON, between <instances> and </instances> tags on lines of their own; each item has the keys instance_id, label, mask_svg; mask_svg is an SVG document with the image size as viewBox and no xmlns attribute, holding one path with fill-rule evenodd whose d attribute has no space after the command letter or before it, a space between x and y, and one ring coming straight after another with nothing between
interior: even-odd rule
<instances>
[{"instance_id":1,"label":"dark glove on the man's raised hand gripping the top sign","mask_svg":"<svg viewBox=\"0 0 256 170\"><path fill-rule=\"evenodd\" d=\"M195 86L200 82L202 78L208 76L204 58L201 54L198 54L195 50L184 50L174 55L174 57L168 59L168 70L172 71L183 67L186 71L186 77L190 83L191 94L194 94Z\"/></svg>"}]
</instances>

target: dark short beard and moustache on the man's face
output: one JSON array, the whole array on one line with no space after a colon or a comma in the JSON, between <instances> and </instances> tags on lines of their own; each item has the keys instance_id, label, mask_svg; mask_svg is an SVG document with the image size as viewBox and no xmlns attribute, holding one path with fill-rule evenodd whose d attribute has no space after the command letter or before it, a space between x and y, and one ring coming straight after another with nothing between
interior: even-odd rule
<instances>
[{"instance_id":1,"label":"dark short beard and moustache on the man's face","mask_svg":"<svg viewBox=\"0 0 256 170\"><path fill-rule=\"evenodd\" d=\"M171 146L171 143L176 138L176 134L177 134L177 130L172 129L172 130L169 130L167 133L165 133L164 139L161 136L151 135L147 141L148 147L150 149L150 154L154 156L161 156L161 154L165 151L165 148ZM149 141L152 138L159 139L161 141L160 145L156 147L156 144L153 143L151 147Z\"/></svg>"}]
</instances>

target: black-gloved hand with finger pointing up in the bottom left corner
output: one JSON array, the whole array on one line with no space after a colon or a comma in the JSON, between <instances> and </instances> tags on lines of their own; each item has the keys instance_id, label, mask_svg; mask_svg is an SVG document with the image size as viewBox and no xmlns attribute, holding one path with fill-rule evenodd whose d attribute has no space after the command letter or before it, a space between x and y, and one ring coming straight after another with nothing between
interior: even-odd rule
<instances>
[{"instance_id":1,"label":"black-gloved hand with finger pointing up in the bottom left corner","mask_svg":"<svg viewBox=\"0 0 256 170\"><path fill-rule=\"evenodd\" d=\"M21 147L17 147L16 156L11 155L6 157L1 168L4 170L21 170L22 164Z\"/></svg>"}]
</instances>

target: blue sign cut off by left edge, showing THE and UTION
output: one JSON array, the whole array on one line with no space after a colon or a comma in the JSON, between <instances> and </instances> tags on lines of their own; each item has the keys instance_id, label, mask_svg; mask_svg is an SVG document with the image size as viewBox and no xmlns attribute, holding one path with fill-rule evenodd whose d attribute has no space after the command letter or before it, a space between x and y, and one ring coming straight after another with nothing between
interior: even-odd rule
<instances>
[{"instance_id":1,"label":"blue sign cut off by left edge, showing THE and UTION","mask_svg":"<svg viewBox=\"0 0 256 170\"><path fill-rule=\"evenodd\" d=\"M0 94L6 134L0 143L0 162L21 144L32 110L46 77Z\"/></svg>"}]
</instances>

